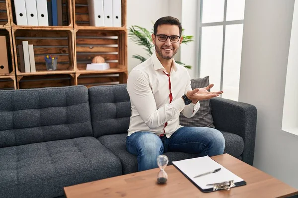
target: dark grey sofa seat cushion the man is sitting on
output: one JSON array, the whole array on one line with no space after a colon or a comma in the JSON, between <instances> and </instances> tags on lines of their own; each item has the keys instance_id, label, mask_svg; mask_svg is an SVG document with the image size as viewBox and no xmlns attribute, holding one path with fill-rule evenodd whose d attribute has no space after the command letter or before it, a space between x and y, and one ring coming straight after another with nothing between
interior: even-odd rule
<instances>
[{"instance_id":1,"label":"dark grey sofa seat cushion the man is sitting on","mask_svg":"<svg viewBox=\"0 0 298 198\"><path fill-rule=\"evenodd\" d=\"M222 132L225 138L225 153L234 157L239 157L244 149L243 139L235 134ZM126 151L126 136L127 133L104 135L98 140L109 148L121 161L122 173L128 174L138 171L137 157ZM187 154L183 152L166 152L164 153L169 158L169 165L172 161L179 161L183 159L193 158L196 155Z\"/></svg>"}]
</instances>

